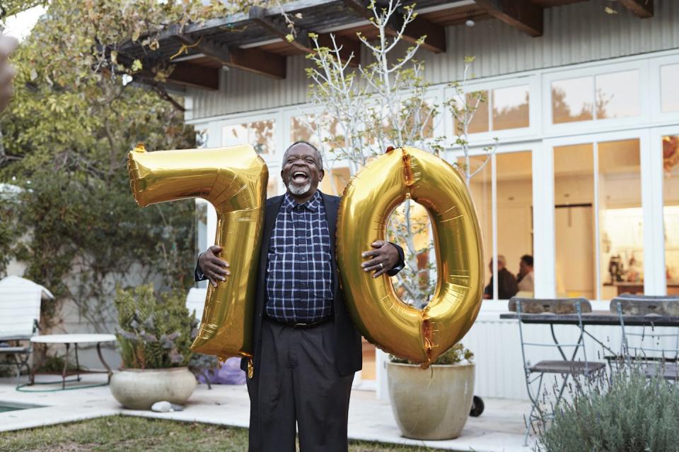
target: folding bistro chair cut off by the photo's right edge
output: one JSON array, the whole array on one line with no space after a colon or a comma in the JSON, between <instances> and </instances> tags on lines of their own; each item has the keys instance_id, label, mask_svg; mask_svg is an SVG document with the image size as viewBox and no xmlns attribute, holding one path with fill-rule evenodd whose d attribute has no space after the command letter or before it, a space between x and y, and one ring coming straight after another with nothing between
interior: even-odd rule
<instances>
[{"instance_id":1,"label":"folding bistro chair cut off by the photo's right edge","mask_svg":"<svg viewBox=\"0 0 679 452\"><path fill-rule=\"evenodd\" d=\"M649 378L662 376L678 381L679 328L656 326L654 320L661 323L667 317L679 316L679 296L622 294L610 301L610 311L617 313L622 331L616 367L637 367ZM651 324L630 326L630 316L644 316Z\"/></svg>"}]
</instances>

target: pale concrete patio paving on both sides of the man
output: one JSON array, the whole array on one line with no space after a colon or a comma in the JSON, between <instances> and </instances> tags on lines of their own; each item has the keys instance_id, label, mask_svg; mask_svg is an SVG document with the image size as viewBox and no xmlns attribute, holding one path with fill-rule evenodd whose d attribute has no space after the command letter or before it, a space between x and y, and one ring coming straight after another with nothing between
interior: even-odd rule
<instances>
[{"instance_id":1,"label":"pale concrete patio paving on both sides of the man","mask_svg":"<svg viewBox=\"0 0 679 452\"><path fill-rule=\"evenodd\" d=\"M85 376L88 383L101 382L104 378L99 375ZM125 410L111 396L107 386L56 392L20 392L16 391L15 386L16 379L0 379L0 405L23 403L41 405L41 408L0 412L0 432L117 414L245 428L249 421L250 400L245 385L215 385L211 390L199 385L185 410L168 413ZM59 384L33 388L60 387ZM400 436L388 400L378 400L373 391L353 391L349 408L349 438L451 451L530 451L530 448L523 447L523 415L528 412L528 403L492 398L484 398L484 403L483 414L470 417L458 439L417 441Z\"/></svg>"}]
</instances>

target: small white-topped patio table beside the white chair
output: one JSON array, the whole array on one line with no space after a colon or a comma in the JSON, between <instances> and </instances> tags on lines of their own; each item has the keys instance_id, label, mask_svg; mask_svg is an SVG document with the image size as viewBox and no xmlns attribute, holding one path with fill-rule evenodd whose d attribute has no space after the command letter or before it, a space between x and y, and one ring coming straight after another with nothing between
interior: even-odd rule
<instances>
[{"instance_id":1,"label":"small white-topped patio table beside the white chair","mask_svg":"<svg viewBox=\"0 0 679 452\"><path fill-rule=\"evenodd\" d=\"M64 344L66 345L66 356L64 357L64 369L61 372L62 376L62 389L66 389L66 377L71 376L71 375L76 375L77 379L76 381L81 381L81 374L108 374L108 380L106 383L99 383L95 385L87 385L87 386L76 386L77 388L90 388L93 386L104 386L111 381L111 375L112 371L111 368L106 364L104 357L101 355L101 344L102 343L109 343L109 342L115 342L115 335L113 334L47 334L47 335L39 335L35 336L33 338L30 338L31 343L40 343L40 344ZM80 362L78 360L78 344L83 344L83 343L96 343L97 344L97 355L99 355L99 360L101 364L105 367L105 370L91 370L91 369L81 369L80 368ZM75 348L75 354L76 354L76 369L68 369L68 364L69 364L69 350L71 349L71 344L74 345ZM23 386L33 386L34 384L51 384L55 383L54 381L52 382L47 382L47 383L35 383L35 368L31 370L30 373L30 383L28 385L21 385L18 386L17 389L20 389ZM57 372L41 372L41 374L50 374L54 375L57 374ZM69 389L72 389L74 387L71 387Z\"/></svg>"}]
</instances>

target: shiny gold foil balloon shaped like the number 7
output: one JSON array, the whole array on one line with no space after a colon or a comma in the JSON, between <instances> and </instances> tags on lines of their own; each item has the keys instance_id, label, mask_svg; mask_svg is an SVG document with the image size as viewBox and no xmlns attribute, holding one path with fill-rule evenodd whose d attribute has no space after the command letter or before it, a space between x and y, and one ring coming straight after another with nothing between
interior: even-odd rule
<instances>
[{"instance_id":1,"label":"shiny gold foil balloon shaped like the number 7","mask_svg":"<svg viewBox=\"0 0 679 452\"><path fill-rule=\"evenodd\" d=\"M252 326L269 171L250 145L163 150L143 144L127 157L129 183L139 206L203 198L217 211L215 244L231 275L208 285L203 319L192 350L221 359L252 357ZM252 369L250 369L252 370Z\"/></svg>"}]
</instances>

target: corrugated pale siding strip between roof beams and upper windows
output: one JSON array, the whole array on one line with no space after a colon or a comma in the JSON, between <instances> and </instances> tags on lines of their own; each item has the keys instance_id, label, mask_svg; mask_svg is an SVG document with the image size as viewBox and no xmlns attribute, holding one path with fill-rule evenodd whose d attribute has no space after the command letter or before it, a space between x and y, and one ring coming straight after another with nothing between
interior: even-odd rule
<instances>
[{"instance_id":1,"label":"corrugated pale siding strip between roof beams and upper windows","mask_svg":"<svg viewBox=\"0 0 679 452\"><path fill-rule=\"evenodd\" d=\"M489 77L678 48L679 2L656 0L654 5L655 16L649 19L639 19L624 8L618 14L605 13L598 0L548 8L545 35L536 38L498 20L485 20L473 28L448 27L447 52L422 50L419 57L426 61L426 78L436 84L461 78L467 55L477 57L475 76ZM289 58L287 78L280 81L230 69L222 74L219 92L188 91L192 109L186 119L304 103L307 65L303 56Z\"/></svg>"}]
</instances>

